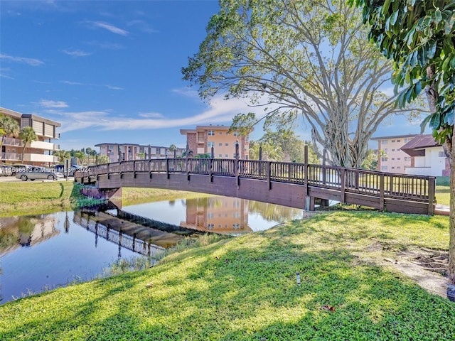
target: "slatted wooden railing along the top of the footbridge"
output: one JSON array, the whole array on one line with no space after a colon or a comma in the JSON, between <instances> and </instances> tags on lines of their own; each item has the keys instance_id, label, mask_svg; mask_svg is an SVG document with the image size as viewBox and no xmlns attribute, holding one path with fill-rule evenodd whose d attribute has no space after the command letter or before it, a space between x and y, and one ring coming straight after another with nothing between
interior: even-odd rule
<instances>
[{"instance_id":1,"label":"slatted wooden railing along the top of the footbridge","mask_svg":"<svg viewBox=\"0 0 455 341\"><path fill-rule=\"evenodd\" d=\"M427 201L434 199L434 178L363 169L257 160L168 158L122 161L76 171L75 178L112 173L188 173L238 176L312 185L379 197Z\"/></svg>"}]
</instances>

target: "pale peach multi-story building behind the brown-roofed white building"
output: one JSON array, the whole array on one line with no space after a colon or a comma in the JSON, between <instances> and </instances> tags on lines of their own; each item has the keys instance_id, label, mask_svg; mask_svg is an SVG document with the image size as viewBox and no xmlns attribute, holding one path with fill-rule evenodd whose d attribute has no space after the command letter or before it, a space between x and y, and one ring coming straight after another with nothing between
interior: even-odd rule
<instances>
[{"instance_id":1,"label":"pale peach multi-story building behind the brown-roofed white building","mask_svg":"<svg viewBox=\"0 0 455 341\"><path fill-rule=\"evenodd\" d=\"M415 136L417 134L373 138L373 141L378 141L378 151L385 153L385 156L381 156L378 160L378 171L405 174L405 168L411 166L412 156L401 148Z\"/></svg>"}]
</instances>

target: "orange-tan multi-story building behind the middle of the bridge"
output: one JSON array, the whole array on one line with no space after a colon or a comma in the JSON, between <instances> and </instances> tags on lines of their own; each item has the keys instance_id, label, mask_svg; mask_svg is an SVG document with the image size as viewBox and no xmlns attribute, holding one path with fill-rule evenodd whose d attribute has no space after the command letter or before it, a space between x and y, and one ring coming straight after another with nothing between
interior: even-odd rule
<instances>
[{"instance_id":1,"label":"orange-tan multi-story building behind the middle of the bridge","mask_svg":"<svg viewBox=\"0 0 455 341\"><path fill-rule=\"evenodd\" d=\"M247 160L250 155L248 136L237 131L229 132L229 126L196 126L196 129L180 129L186 136L188 149L193 155L211 153L215 158L235 158L235 144L239 144L239 158Z\"/></svg>"}]
</instances>

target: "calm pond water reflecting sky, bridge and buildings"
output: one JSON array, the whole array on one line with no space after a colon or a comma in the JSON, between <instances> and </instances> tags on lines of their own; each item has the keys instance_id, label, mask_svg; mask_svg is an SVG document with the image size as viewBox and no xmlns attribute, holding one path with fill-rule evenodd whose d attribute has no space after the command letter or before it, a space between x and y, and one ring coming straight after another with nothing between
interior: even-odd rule
<instances>
[{"instance_id":1,"label":"calm pond water reflecting sky, bridge and buildings","mask_svg":"<svg viewBox=\"0 0 455 341\"><path fill-rule=\"evenodd\" d=\"M0 218L0 304L107 274L118 259L152 260L188 235L239 235L303 211L232 197Z\"/></svg>"}]
</instances>

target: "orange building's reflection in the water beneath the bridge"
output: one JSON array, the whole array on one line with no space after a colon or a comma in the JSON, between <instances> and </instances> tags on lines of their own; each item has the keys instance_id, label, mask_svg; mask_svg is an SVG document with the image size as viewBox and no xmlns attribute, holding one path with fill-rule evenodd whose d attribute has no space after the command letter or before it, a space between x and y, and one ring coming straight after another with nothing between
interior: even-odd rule
<instances>
[{"instance_id":1,"label":"orange building's reflection in the water beneath the bridge","mask_svg":"<svg viewBox=\"0 0 455 341\"><path fill-rule=\"evenodd\" d=\"M186 200L182 227L237 234L252 232L248 226L248 200L236 197L199 197Z\"/></svg>"}]
</instances>

